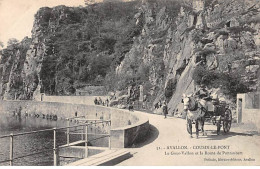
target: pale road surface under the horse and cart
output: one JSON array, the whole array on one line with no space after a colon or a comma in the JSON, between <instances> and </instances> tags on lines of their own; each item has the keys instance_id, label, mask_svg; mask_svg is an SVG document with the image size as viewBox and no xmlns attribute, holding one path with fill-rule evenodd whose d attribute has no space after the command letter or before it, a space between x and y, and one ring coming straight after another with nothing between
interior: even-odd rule
<instances>
[{"instance_id":1,"label":"pale road surface under the horse and cart","mask_svg":"<svg viewBox=\"0 0 260 169\"><path fill-rule=\"evenodd\" d=\"M257 131L234 124L230 133L225 134L221 128L217 135L216 126L208 123L205 125L207 135L196 139L195 133L194 138L188 135L183 119L145 115L151 124L148 138L128 148L133 157L119 166L260 165Z\"/></svg>"}]
</instances>

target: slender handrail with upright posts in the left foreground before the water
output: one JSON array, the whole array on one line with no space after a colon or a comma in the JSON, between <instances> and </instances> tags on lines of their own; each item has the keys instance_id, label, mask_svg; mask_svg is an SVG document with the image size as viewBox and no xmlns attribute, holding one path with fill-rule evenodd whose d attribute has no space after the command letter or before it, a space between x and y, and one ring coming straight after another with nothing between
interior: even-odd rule
<instances>
[{"instance_id":1,"label":"slender handrail with upright posts in the left foreground before the water","mask_svg":"<svg viewBox=\"0 0 260 169\"><path fill-rule=\"evenodd\" d=\"M36 153L31 153L31 154L27 154L27 155L23 155L23 156L19 156L19 157L13 157L13 141L14 141L14 137L15 136L22 136L22 135L28 135L28 134L35 134L35 133L39 133L39 132L47 132L47 131L53 131L53 140L54 140L54 147L52 148L53 150L53 154L54 154L54 165L58 165L58 149L59 149L59 146L57 146L56 144L56 136L57 136L57 132L58 130L63 130L63 129L67 129L67 138L68 138L68 141L69 141L69 134L82 134L82 139L83 139L83 135L85 134L86 137L85 137L85 143L88 143L90 141L94 141L94 140L98 140L98 139L101 139L101 138L105 138L105 137L109 137L110 138L110 132L109 134L96 134L96 133L89 133L89 134L95 134L95 135L103 135L102 137L99 137L99 138L94 138L92 140L87 140L87 127L88 126L91 126L91 125L96 125L96 124L102 124L102 123L109 123L110 124L110 127L109 127L109 130L111 129L111 120L103 120L103 121L99 121L97 122L97 120L95 120L95 122L91 122L91 123L84 123L84 124L80 124L80 125L73 125L73 126L67 126L67 127L60 127L60 128L51 128L51 129L44 129L44 130L37 130L37 131L30 131L30 132L23 132L23 133L16 133L16 134L13 134L11 133L10 135L3 135L3 136L0 136L0 139L2 138L10 138L10 159L9 160L3 160L3 161L0 161L0 164L1 163L6 163L6 162L10 162L10 165L12 166L13 165L13 161L16 160L16 159L21 159L21 158L24 158L24 157L29 157L29 156L33 156L33 155L36 155L36 154L41 154L41 153L46 153L48 152L49 150L51 149L45 149L46 151L40 151L40 152L36 152ZM85 133L70 133L69 132L69 129L71 128L75 128L75 127L84 127L83 129L77 129L75 131L79 131L79 130L83 130L84 129L86 130ZM62 145L60 146L60 148L64 148L64 147L69 147L71 146L69 143L68 144L65 144L65 145ZM110 139L109 139L109 148L110 148Z\"/></svg>"}]
</instances>

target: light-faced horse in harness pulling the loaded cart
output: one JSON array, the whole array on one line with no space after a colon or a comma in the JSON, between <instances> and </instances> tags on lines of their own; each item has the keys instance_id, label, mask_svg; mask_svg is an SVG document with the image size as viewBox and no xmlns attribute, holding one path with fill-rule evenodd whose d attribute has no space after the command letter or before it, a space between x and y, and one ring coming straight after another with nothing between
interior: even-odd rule
<instances>
[{"instance_id":1,"label":"light-faced horse in harness pulling the loaded cart","mask_svg":"<svg viewBox=\"0 0 260 169\"><path fill-rule=\"evenodd\" d=\"M183 95L183 105L184 111L187 112L187 131L192 138L192 122L195 121L195 128L196 128L196 138L199 137L199 125L201 126L201 131L203 136L204 133L204 122L205 122L205 113L206 109L203 104L197 101L193 95L186 96Z\"/></svg>"}]
</instances>

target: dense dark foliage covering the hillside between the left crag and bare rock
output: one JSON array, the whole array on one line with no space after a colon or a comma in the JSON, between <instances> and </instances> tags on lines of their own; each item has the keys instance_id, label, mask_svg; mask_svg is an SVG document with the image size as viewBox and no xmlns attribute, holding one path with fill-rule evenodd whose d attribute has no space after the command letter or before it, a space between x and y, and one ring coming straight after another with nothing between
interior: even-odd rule
<instances>
[{"instance_id":1,"label":"dense dark foliage covering the hillside between the left crag and bare rock","mask_svg":"<svg viewBox=\"0 0 260 169\"><path fill-rule=\"evenodd\" d=\"M142 25L134 21L136 4L108 2L85 8L42 8L38 12L40 26L48 29L40 73L42 92L70 95L84 85L104 85L111 67L122 61L132 38L140 33ZM57 19L61 10L65 19ZM51 24L55 25L54 31L50 31Z\"/></svg>"}]
</instances>

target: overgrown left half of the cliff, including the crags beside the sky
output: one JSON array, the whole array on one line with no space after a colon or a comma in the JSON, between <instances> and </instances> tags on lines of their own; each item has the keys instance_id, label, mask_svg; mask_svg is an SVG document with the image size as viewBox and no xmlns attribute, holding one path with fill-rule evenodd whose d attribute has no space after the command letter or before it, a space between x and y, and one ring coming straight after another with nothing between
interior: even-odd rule
<instances>
[{"instance_id":1,"label":"overgrown left half of the cliff, including the crags beside the sky","mask_svg":"<svg viewBox=\"0 0 260 169\"><path fill-rule=\"evenodd\" d=\"M120 39L128 35L127 28L135 29L129 21L134 21L136 4L108 2L86 8L39 9L35 14L32 38L21 57L15 57L18 49L13 45L2 52L2 96L5 99L35 99L40 93L74 95L78 88L102 85L112 60L117 60L113 55L115 44L119 46ZM130 48L131 40L128 44L126 50ZM23 42L17 45L23 46ZM17 84L22 92L9 89L12 88L8 81L13 78L13 68L7 59L22 65L17 73L23 81Z\"/></svg>"}]
</instances>

